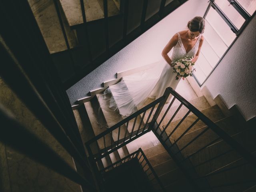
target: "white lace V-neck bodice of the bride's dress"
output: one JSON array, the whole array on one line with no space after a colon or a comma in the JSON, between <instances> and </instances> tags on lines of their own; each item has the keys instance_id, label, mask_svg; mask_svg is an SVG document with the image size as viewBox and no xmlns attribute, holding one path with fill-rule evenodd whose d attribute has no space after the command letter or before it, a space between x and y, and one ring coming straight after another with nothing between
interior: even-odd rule
<instances>
[{"instance_id":1,"label":"white lace V-neck bodice of the bride's dress","mask_svg":"<svg viewBox=\"0 0 256 192\"><path fill-rule=\"evenodd\" d=\"M196 52L198 51L198 46L199 46L199 42L200 42L202 35L200 34L198 36L198 39L196 40L196 44L194 45L194 47L189 52L186 52L184 45L181 41L180 34L179 33L177 33L177 34L178 34L179 39L178 39L177 44L173 48L171 60L184 58L185 56L186 57L194 56L196 54Z\"/></svg>"}]
</instances>

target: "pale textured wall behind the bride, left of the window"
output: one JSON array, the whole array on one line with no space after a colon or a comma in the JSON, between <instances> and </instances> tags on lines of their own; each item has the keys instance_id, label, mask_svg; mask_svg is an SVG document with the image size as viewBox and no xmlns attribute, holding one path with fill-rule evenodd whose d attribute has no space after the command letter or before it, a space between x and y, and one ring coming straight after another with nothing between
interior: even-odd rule
<instances>
[{"instance_id":1,"label":"pale textured wall behind the bride, left of the window","mask_svg":"<svg viewBox=\"0 0 256 192\"><path fill-rule=\"evenodd\" d=\"M150 64L162 59L161 52L170 38L184 30L188 20L203 16L207 0L189 0L166 16L136 40L128 44L82 80L67 90L71 104L87 96L90 90L100 88L104 81L116 78L116 73Z\"/></svg>"}]
</instances>

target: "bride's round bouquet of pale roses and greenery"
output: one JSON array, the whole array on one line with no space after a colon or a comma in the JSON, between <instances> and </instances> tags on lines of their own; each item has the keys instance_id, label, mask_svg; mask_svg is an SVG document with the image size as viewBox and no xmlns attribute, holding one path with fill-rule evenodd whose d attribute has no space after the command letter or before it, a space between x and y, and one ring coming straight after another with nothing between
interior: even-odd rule
<instances>
[{"instance_id":1,"label":"bride's round bouquet of pale roses and greenery","mask_svg":"<svg viewBox=\"0 0 256 192\"><path fill-rule=\"evenodd\" d=\"M176 80L179 79L179 77L186 78L187 76L192 76L192 72L196 69L193 68L194 62L192 62L193 57L184 57L182 59L177 59L172 61L173 67L173 73L176 73Z\"/></svg>"}]
</instances>

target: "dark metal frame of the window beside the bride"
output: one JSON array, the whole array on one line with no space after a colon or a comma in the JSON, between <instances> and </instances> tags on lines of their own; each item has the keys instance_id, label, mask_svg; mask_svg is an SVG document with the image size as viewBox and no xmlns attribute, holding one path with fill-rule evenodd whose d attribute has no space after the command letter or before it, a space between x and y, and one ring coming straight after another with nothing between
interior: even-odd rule
<instances>
[{"instance_id":1,"label":"dark metal frame of the window beside the bride","mask_svg":"<svg viewBox=\"0 0 256 192\"><path fill-rule=\"evenodd\" d=\"M220 17L226 22L226 24L230 27L232 32L234 32L234 34L236 34L236 38L233 40L233 42L230 44L230 46L228 46L227 50L221 56L220 60L216 63L216 65L214 66L212 71L208 74L208 76L205 78L205 80L202 82L202 84L199 82L199 80L193 74L193 77L196 80L196 82L199 85L199 87L201 87L204 84L204 82L206 82L206 80L209 78L209 76L212 74L212 72L215 70L215 68L221 62L222 58L226 55L226 53L232 47L234 42L236 42L236 40L239 37L239 35L242 33L242 31L246 28L246 26L248 25L250 20L252 20L252 18L256 14L256 10L255 10L254 13L252 14L252 16L250 16L250 14L237 2L237 0L227 0L230 3L230 5L232 5L236 9L236 11L245 19L245 21L242 24L242 26L240 27L240 29L238 29L238 28L236 28L236 26L231 22L231 20L228 18L228 16L226 16L226 14L220 9L220 7L214 1L215 0L209 0L208 1L209 4L208 4L208 6L206 8L206 11L204 12L203 18L205 19L207 14L208 14L208 12L209 12L209 10L210 10L210 8L213 8L220 15Z\"/></svg>"}]
</instances>

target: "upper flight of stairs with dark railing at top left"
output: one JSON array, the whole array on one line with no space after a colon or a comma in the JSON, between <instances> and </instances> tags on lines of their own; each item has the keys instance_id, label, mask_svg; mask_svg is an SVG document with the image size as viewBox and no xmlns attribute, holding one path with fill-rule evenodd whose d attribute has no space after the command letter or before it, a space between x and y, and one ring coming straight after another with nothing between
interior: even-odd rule
<instances>
[{"instance_id":1,"label":"upper flight of stairs with dark railing at top left","mask_svg":"<svg viewBox=\"0 0 256 192\"><path fill-rule=\"evenodd\" d=\"M28 0L68 89L187 0Z\"/></svg>"}]
</instances>

